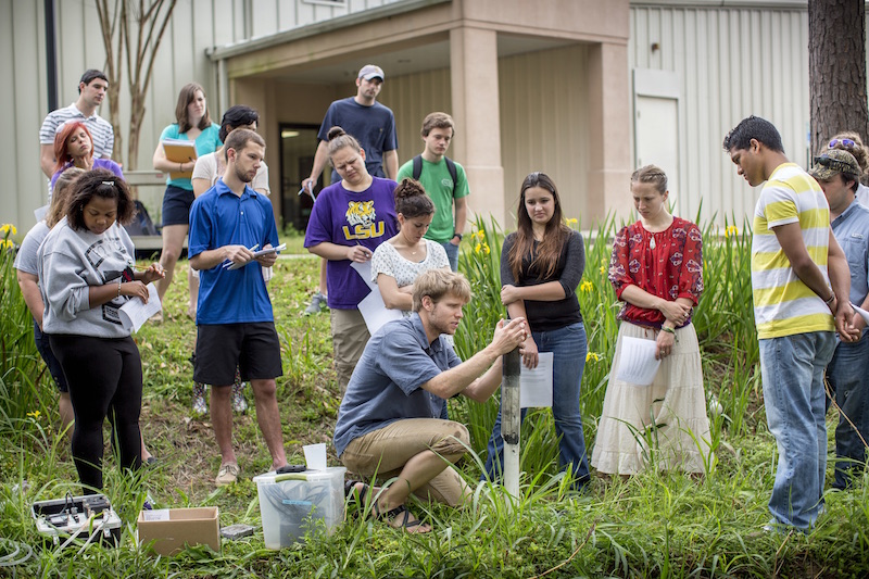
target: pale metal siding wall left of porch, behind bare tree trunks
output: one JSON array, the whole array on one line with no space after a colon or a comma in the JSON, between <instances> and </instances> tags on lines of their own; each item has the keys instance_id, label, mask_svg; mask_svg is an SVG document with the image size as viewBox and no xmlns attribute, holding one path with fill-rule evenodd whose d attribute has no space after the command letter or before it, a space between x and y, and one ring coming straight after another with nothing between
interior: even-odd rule
<instances>
[{"instance_id":1,"label":"pale metal siding wall left of porch, behind bare tree trunks","mask_svg":"<svg viewBox=\"0 0 869 579\"><path fill-rule=\"evenodd\" d=\"M209 110L219 123L217 75L206 49L396 1L347 0L343 7L331 8L325 2L305 0L178 0L146 97L138 168L151 168L160 133L174 122L176 99L185 84L203 85ZM81 73L87 68L104 68L105 51L92 0L55 0L54 10L59 106L66 106L78 98ZM33 211L48 199L46 179L39 168L39 127L49 112L45 26L42 0L0 0L0 73L4 79L0 87L0 109L14 111L12 138L0 144L0 174L4 176L0 223L11 222L25 230L35 222ZM122 119L129 118L128 80L125 68L121 78ZM98 114L109 118L108 102ZM129 165L127 137L125 129L124 143L121 149L115 147L114 159Z\"/></svg>"}]
</instances>

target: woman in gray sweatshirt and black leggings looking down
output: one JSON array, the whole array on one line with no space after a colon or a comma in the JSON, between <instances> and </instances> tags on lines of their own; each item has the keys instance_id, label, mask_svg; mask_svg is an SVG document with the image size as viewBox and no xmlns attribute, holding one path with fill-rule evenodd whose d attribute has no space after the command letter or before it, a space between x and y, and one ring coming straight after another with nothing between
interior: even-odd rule
<instances>
[{"instance_id":1,"label":"woman in gray sweatshirt and black leggings looking down","mask_svg":"<svg viewBox=\"0 0 869 579\"><path fill-rule=\"evenodd\" d=\"M65 217L39 248L42 331L68 385L73 460L86 493L102 488L106 416L121 467L141 465L142 365L118 310L131 299L147 302L146 284L163 272L158 264L135 270L133 241L119 225L134 213L124 180L92 171L76 181Z\"/></svg>"}]
</instances>

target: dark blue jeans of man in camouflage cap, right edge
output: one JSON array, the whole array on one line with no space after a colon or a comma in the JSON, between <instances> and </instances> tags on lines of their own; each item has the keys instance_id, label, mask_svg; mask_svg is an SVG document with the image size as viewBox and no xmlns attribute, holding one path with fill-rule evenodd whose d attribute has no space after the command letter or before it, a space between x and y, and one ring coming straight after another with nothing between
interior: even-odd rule
<instances>
[{"instance_id":1,"label":"dark blue jeans of man in camouflage cap, right edge","mask_svg":"<svg viewBox=\"0 0 869 579\"><path fill-rule=\"evenodd\" d=\"M833 360L827 366L827 382L840 408L835 456L843 458L836 460L833 488L844 490L851 487L852 476L859 476L866 464L866 446L860 437L869 437L869 331L858 342L840 342L835 347Z\"/></svg>"}]
</instances>

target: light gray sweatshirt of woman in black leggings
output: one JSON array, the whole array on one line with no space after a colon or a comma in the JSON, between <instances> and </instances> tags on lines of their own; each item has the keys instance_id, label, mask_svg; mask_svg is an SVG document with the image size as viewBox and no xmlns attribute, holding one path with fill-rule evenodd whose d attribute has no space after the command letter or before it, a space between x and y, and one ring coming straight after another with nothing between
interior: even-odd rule
<instances>
[{"instance_id":1,"label":"light gray sweatshirt of woman in black leggings","mask_svg":"<svg viewBox=\"0 0 869 579\"><path fill-rule=\"evenodd\" d=\"M90 286L117 284L123 270L133 265L133 240L114 223L101 235L70 227L61 219L39 248L39 279L46 312L45 333L72 333L95 338L125 338L117 310L130 298L90 306Z\"/></svg>"}]
</instances>

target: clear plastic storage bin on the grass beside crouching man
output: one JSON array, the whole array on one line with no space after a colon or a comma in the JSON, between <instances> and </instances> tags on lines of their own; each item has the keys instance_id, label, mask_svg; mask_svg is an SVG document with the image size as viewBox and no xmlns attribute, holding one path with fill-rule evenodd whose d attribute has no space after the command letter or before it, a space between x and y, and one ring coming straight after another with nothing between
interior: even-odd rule
<instances>
[{"instance_id":1,"label":"clear plastic storage bin on the grass beside crouching man","mask_svg":"<svg viewBox=\"0 0 869 579\"><path fill-rule=\"evenodd\" d=\"M260 494L260 515L267 549L291 546L310 529L331 531L344 518L343 466L253 477Z\"/></svg>"}]
</instances>

